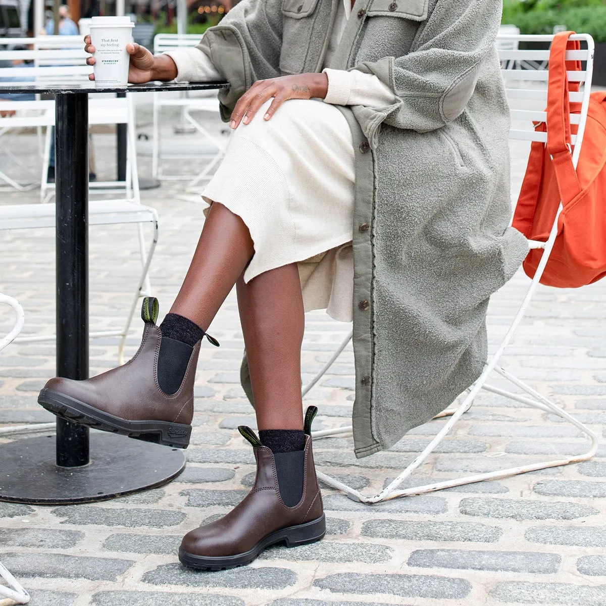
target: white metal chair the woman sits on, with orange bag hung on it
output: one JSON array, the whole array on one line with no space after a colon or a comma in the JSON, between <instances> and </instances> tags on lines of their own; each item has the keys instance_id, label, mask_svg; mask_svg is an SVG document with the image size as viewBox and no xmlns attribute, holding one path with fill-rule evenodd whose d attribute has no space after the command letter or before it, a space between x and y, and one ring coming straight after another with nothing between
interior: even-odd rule
<instances>
[{"instance_id":1,"label":"white metal chair the woman sits on, with orange bag hung on it","mask_svg":"<svg viewBox=\"0 0 606 606\"><path fill-rule=\"evenodd\" d=\"M514 36L507 35L504 36L505 40L500 40L500 42L520 42L520 41L529 41L529 42L550 42L553 39L553 36ZM571 92L570 100L573 102L581 102L582 110L580 115L571 115L570 122L571 124L578 124L578 134L573 136L572 144L574 145L573 151L573 162L574 166L579 159L579 154L581 153L581 145L583 141L583 135L585 130L585 122L587 121L587 110L589 104L589 95L591 92L591 75L593 73L593 53L594 53L594 43L591 36L588 35L575 35L571 39L580 40L587 45L586 50L579 51L568 51L567 59L568 60L579 60L579 61L587 61L587 68L583 72L568 72L568 79L573 82L585 82L584 90L582 92ZM517 46L517 44L516 44ZM510 61L548 61L549 52L543 50L518 50L518 48L513 47L513 44L508 44L508 48L499 50L499 58L505 65L508 65ZM502 70L502 74L505 80L505 84L507 87L507 96L513 104L519 104L520 101L527 101L531 104L539 104L540 108L547 107L547 80L548 80L548 72L545 70L519 70L519 69L511 69L504 68ZM530 83L530 84L529 84ZM542 87L539 88L533 87L537 83L541 84ZM547 133L538 133L534 130L533 122L536 121L545 121L547 115L544 111L534 111L530 109L514 109L511 111L511 117L514 121L524 121L525 128L518 127L518 124L515 124L510 132L510 139L521 140L521 141L541 141L543 143L547 142ZM562 211L562 205L560 205L558 210L559 213ZM511 339L513 338L514 332L518 325L520 324L522 318L524 317L525 311L528 307L528 304L531 301L531 298L536 290L536 287L539 284L539 280L541 279L543 270L545 265L547 264L547 260L550 256L551 249L553 248L553 243L555 241L556 235L558 233L558 216L553 222L553 228L551 229L550 237L547 242L536 242L536 241L528 241L528 248L542 248L543 255L541 258L541 263L536 271L536 274L530 284L528 285L528 290L522 300L522 303L516 313L513 321L511 322L510 327L505 334L505 337L502 339L501 344L499 345L496 353L488 359L487 364L485 365L484 372L466 392L466 395L462 395L459 398L459 404L456 408L450 408L442 412L438 417L447 417L450 416L448 422L441 428L438 434L431 440L430 444L419 454L407 468L405 468L402 473L398 475L392 482L390 482L387 487L384 488L380 493L373 495L365 495L360 491L356 490L344 484L335 478L331 478L325 473L318 472L318 478L322 479L326 484L338 488L339 490L344 491L350 499L354 501L361 501L367 504L378 503L381 501L387 501L388 499L393 499L396 497L402 496L411 496L413 494L422 494L435 490L441 490L442 488L450 488L454 486L461 486L464 484L472 484L473 482L480 482L483 480L495 480L501 478L508 478L509 476L513 476L519 473L526 473L527 471L536 471L541 469L546 469L549 467L559 467L560 465L568 465L570 463L575 463L579 461L587 461L593 457L598 447L598 438L588 427L586 427L581 422L577 421L573 416L568 415L567 412L561 410L554 402L550 399L543 396L541 393L536 391L534 388L530 387L530 385L526 384L524 381L516 378L516 376L512 375L510 372L505 370L501 365L499 365L499 360L503 355L505 348L510 344ZM347 346L348 342L351 339L351 335L348 336L347 339L341 344L338 350L335 352L335 355L330 359L330 361L325 364L324 368L316 375L316 377L310 382L310 384L305 387L303 390L303 395L305 395L313 385L315 385L319 379L324 375L324 373L330 368L330 366L335 362L336 358L338 358L339 354L342 350ZM507 379L512 385L515 385L517 388L521 389L525 392L525 395L519 395L517 393L512 393L510 391L501 389L499 387L493 387L487 384L487 379L492 372L497 373L497 375L501 376L504 379ZM525 404L529 407L538 408L539 410L545 411L547 413L551 413L553 415L557 415L565 421L570 422L574 425L574 427L578 428L582 431L588 438L591 440L591 447L585 453L580 453L576 456L568 456L562 459L553 459L551 461L538 462L530 465L522 465L520 467L511 467L499 471L492 471L490 473L480 473L474 476L467 476L464 478L458 478L443 482L436 482L434 484L420 485L413 488L407 488L405 490L400 489L400 485L404 482L410 474L415 471L427 457L435 450L436 446L442 441L442 439L448 434L448 432L453 428L454 424L461 418L467 410L471 408L473 405L474 398L478 395L480 390L486 390L491 393L498 394L499 396L503 396L504 398L511 399L515 402L519 402L520 404ZM351 426L341 427L333 430L324 430L324 431L316 431L313 433L314 438L322 438L326 436L339 435L342 433L349 433L351 431Z\"/></svg>"}]
</instances>

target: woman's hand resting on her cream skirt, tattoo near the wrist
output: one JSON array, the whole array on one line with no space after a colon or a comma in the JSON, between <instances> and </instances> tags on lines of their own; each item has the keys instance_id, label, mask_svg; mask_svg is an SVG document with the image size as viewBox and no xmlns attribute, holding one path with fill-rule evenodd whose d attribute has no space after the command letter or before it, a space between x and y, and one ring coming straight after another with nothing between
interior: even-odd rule
<instances>
[{"instance_id":1,"label":"woman's hand resting on her cream skirt, tattoo near the wrist","mask_svg":"<svg viewBox=\"0 0 606 606\"><path fill-rule=\"evenodd\" d=\"M230 127L238 128L240 122L248 124L259 107L273 97L264 120L269 120L287 99L324 99L328 92L328 76L325 73L308 73L296 76L281 76L270 80L258 80L244 95L231 112Z\"/></svg>"}]
</instances>

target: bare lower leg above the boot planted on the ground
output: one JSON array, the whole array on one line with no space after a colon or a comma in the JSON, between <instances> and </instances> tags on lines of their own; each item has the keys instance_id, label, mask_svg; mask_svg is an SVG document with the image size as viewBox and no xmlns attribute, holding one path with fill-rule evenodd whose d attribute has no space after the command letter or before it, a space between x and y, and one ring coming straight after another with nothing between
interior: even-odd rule
<instances>
[{"instance_id":1,"label":"bare lower leg above the boot planted on the ground","mask_svg":"<svg viewBox=\"0 0 606 606\"><path fill-rule=\"evenodd\" d=\"M259 430L303 429L301 342L305 328L295 263L237 282Z\"/></svg>"}]
</instances>

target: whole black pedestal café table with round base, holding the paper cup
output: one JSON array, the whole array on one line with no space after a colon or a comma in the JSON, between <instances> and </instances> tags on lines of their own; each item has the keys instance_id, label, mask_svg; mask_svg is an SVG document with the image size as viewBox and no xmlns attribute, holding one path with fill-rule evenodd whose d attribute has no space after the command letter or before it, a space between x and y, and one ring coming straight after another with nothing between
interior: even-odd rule
<instances>
[{"instance_id":1,"label":"whole black pedestal caf\u00e9 table with round base, holding the paper cup","mask_svg":"<svg viewBox=\"0 0 606 606\"><path fill-rule=\"evenodd\" d=\"M55 96L57 376L88 378L88 93L208 90L225 82L127 87L0 82L0 94ZM0 500L101 501L153 488L185 466L182 450L95 432L57 419L53 436L0 445Z\"/></svg>"}]
</instances>

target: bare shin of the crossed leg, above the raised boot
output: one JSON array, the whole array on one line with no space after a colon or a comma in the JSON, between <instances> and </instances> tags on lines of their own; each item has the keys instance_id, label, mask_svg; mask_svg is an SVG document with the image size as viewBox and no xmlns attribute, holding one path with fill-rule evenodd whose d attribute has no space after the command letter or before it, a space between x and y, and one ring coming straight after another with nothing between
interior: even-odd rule
<instances>
[{"instance_id":1,"label":"bare shin of the crossed leg, above the raised boot","mask_svg":"<svg viewBox=\"0 0 606 606\"><path fill-rule=\"evenodd\" d=\"M214 202L171 313L207 330L254 252L244 221Z\"/></svg>"}]
</instances>

